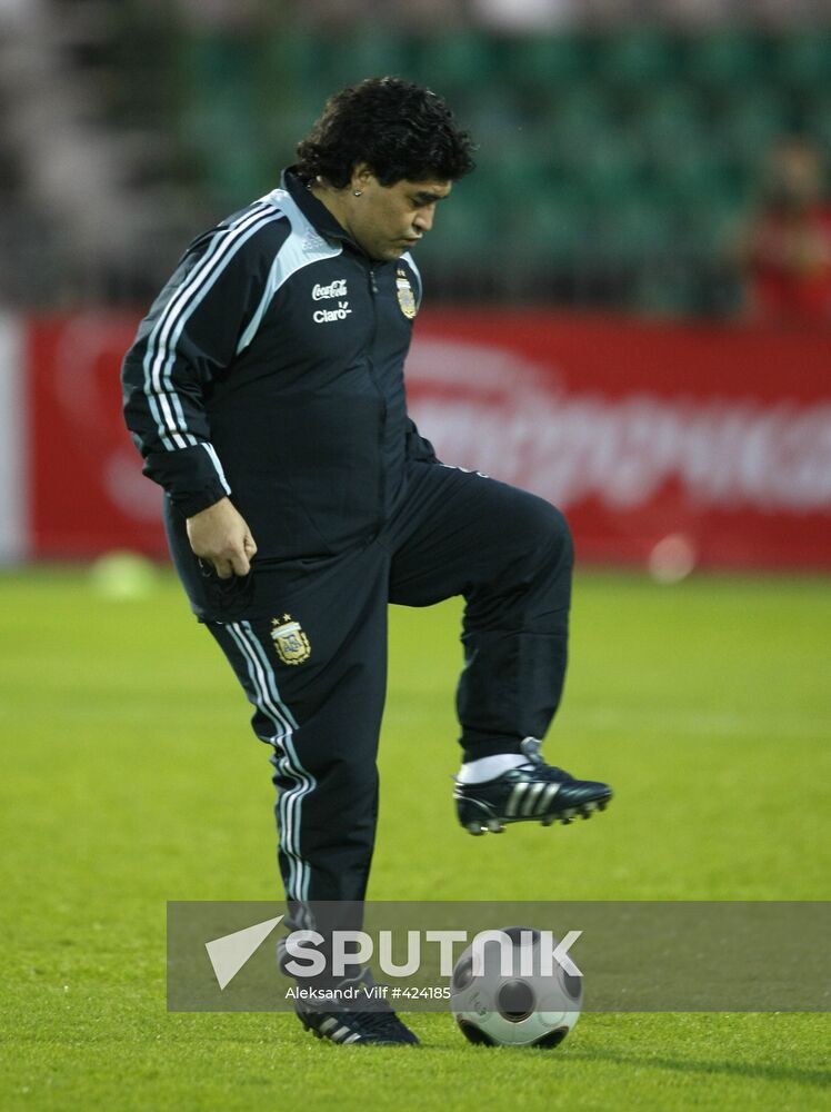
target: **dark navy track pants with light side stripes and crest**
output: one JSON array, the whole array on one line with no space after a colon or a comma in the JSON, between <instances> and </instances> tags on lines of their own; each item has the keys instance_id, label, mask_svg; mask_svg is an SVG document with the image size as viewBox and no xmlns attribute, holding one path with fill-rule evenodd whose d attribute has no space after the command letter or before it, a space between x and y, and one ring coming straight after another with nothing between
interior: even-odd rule
<instances>
[{"instance_id":1,"label":"dark navy track pants with light side stripes and crest","mask_svg":"<svg viewBox=\"0 0 831 1112\"><path fill-rule=\"evenodd\" d=\"M274 747L287 898L363 898L376 833L376 754L389 603L465 599L457 705L464 759L542 737L565 674L572 548L534 495L412 463L367 547L257 565L250 589L208 620ZM218 612L219 613L219 612Z\"/></svg>"}]
</instances>

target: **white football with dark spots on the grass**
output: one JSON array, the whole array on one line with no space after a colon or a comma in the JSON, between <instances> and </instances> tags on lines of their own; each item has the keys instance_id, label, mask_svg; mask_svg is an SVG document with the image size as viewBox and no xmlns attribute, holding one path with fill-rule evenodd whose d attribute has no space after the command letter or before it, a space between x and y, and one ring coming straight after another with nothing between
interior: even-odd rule
<instances>
[{"instance_id":1,"label":"white football with dark spots on the grass","mask_svg":"<svg viewBox=\"0 0 831 1112\"><path fill-rule=\"evenodd\" d=\"M558 1046L577 1023L583 979L557 961L547 963L543 936L530 926L502 927L510 946L481 947L482 972L474 972L474 944L453 967L451 1010L462 1034L490 1046ZM549 936L550 937L550 936Z\"/></svg>"}]
</instances>

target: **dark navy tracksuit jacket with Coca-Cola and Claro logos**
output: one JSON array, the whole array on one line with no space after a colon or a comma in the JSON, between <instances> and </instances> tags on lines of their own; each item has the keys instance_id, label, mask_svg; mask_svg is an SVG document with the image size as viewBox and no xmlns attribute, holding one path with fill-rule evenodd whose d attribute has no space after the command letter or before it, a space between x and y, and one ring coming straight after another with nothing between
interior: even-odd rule
<instances>
[{"instance_id":1,"label":"dark navy tracksuit jacket with Coca-Cola and Claro logos","mask_svg":"<svg viewBox=\"0 0 831 1112\"><path fill-rule=\"evenodd\" d=\"M378 533L406 459L435 458L404 396L420 299L410 256L371 260L291 170L194 240L122 369L169 528L231 495L258 560Z\"/></svg>"}]
</instances>

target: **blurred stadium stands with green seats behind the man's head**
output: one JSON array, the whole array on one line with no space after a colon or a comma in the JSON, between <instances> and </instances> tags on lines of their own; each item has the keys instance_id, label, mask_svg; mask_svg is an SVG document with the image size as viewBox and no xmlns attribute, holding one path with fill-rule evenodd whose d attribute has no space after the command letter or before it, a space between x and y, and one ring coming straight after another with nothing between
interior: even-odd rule
<instances>
[{"instance_id":1,"label":"blurred stadium stands with green seats behind the man's head","mask_svg":"<svg viewBox=\"0 0 831 1112\"><path fill-rule=\"evenodd\" d=\"M213 21L138 0L7 7L0 62L31 44L33 12L49 63L0 79L0 299L12 304L143 301L193 234L272 187L330 91L379 72L445 95L481 145L421 249L433 299L728 315L728 247L763 153L794 131L831 153L831 21L508 34L287 21L257 3ZM38 82L62 111L21 136ZM56 185L38 160L60 152L58 133L100 158L66 161Z\"/></svg>"}]
</instances>

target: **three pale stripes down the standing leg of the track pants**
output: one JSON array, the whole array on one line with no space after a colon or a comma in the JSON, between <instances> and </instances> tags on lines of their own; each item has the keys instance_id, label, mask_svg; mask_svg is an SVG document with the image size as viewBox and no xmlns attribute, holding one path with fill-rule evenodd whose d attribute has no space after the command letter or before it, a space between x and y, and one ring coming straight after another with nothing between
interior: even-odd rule
<instances>
[{"instance_id":1,"label":"three pale stripes down the standing leg of the track pants","mask_svg":"<svg viewBox=\"0 0 831 1112\"><path fill-rule=\"evenodd\" d=\"M248 622L226 626L247 662L249 677L254 689L254 705L271 718L278 732L272 744L282 748L277 768L294 780L297 787L280 792L278 815L280 817L281 848L289 860L289 882L287 896L292 900L308 900L311 872L300 852L300 801L317 786L317 781L303 768L297 757L292 742L291 726L297 727L293 715L280 698L277 682L262 646ZM297 804L297 805L296 805Z\"/></svg>"}]
</instances>

